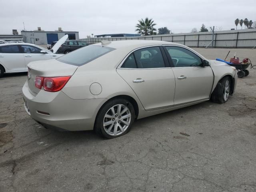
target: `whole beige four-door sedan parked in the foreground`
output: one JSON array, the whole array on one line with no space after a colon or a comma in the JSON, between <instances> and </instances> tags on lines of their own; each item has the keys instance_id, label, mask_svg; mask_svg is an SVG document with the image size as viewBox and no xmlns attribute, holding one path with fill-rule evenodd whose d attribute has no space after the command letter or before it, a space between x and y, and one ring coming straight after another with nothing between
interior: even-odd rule
<instances>
[{"instance_id":1,"label":"whole beige four-door sedan parked in the foreground","mask_svg":"<svg viewBox=\"0 0 256 192\"><path fill-rule=\"evenodd\" d=\"M187 46L151 40L103 41L28 64L26 112L46 128L126 134L135 119L198 104L225 103L236 69Z\"/></svg>"}]
</instances>

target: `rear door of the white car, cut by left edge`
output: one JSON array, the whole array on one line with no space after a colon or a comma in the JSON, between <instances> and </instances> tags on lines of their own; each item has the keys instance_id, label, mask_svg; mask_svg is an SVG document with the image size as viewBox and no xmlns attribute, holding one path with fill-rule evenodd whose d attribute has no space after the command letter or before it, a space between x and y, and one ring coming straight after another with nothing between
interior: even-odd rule
<instances>
[{"instance_id":1,"label":"rear door of the white car, cut by left edge","mask_svg":"<svg viewBox=\"0 0 256 192\"><path fill-rule=\"evenodd\" d=\"M20 45L0 46L0 63L11 71L24 71L25 60Z\"/></svg>"}]
</instances>

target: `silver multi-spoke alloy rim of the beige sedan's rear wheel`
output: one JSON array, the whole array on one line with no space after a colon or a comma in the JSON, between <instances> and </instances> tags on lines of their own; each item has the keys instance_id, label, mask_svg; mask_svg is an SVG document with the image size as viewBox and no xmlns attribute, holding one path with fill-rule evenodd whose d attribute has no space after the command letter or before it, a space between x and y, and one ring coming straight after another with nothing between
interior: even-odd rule
<instances>
[{"instance_id":1,"label":"silver multi-spoke alloy rim of the beige sedan's rear wheel","mask_svg":"<svg viewBox=\"0 0 256 192\"><path fill-rule=\"evenodd\" d=\"M123 104L112 106L103 118L103 127L105 132L111 136L123 134L130 126L131 112Z\"/></svg>"}]
</instances>

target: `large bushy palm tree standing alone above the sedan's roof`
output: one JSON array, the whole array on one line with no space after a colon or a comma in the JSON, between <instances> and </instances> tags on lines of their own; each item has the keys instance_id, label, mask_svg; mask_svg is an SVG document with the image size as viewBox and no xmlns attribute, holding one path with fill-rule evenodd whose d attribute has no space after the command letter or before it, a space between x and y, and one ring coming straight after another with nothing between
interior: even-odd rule
<instances>
[{"instance_id":1,"label":"large bushy palm tree standing alone above the sedan's roof","mask_svg":"<svg viewBox=\"0 0 256 192\"><path fill-rule=\"evenodd\" d=\"M154 20L145 18L145 21L143 19L138 20L138 24L135 26L136 30L138 31L138 34L142 35L154 35L156 34L156 28L154 26L156 23L154 23Z\"/></svg>"}]
</instances>

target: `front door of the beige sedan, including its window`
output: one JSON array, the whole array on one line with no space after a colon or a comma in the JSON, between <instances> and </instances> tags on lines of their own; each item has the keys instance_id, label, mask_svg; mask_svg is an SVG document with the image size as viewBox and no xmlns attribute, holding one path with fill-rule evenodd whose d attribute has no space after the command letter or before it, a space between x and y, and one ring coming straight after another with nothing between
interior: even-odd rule
<instances>
[{"instance_id":1,"label":"front door of the beige sedan, including its window","mask_svg":"<svg viewBox=\"0 0 256 192\"><path fill-rule=\"evenodd\" d=\"M176 88L174 104L186 104L209 99L214 74L210 66L202 67L203 60L191 50L180 46L166 46L174 64Z\"/></svg>"}]
</instances>

